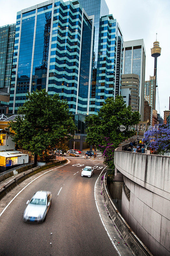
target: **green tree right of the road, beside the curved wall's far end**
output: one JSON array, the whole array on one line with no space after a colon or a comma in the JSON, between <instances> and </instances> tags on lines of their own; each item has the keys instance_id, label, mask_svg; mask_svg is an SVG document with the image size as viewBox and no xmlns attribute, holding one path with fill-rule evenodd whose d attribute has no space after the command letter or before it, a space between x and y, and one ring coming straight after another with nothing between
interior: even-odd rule
<instances>
[{"instance_id":1,"label":"green tree right of the road, beside the curved wall's far end","mask_svg":"<svg viewBox=\"0 0 170 256\"><path fill-rule=\"evenodd\" d=\"M113 167L114 149L135 134L131 127L139 123L140 114L138 111L132 112L131 107L124 103L123 97L117 96L115 100L107 98L98 115L88 116L86 121L86 142L95 144L103 153L105 164Z\"/></svg>"}]
</instances>

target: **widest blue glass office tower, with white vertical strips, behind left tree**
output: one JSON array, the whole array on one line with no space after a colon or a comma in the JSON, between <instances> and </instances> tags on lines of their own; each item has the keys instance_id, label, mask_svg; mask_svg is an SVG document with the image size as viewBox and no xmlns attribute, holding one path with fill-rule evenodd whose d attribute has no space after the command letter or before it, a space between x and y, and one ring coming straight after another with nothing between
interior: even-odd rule
<instances>
[{"instance_id":1,"label":"widest blue glass office tower, with white vertical strips, behind left tree","mask_svg":"<svg viewBox=\"0 0 170 256\"><path fill-rule=\"evenodd\" d=\"M10 113L26 92L46 89L69 102L70 111L89 112L92 90L94 15L78 1L51 0L17 13Z\"/></svg>"}]
</instances>

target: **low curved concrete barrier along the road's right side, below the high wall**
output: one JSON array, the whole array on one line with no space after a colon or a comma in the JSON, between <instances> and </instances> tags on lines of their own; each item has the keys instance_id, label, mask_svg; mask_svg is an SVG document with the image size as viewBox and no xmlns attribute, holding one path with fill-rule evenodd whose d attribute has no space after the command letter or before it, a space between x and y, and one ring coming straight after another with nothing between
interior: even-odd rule
<instances>
[{"instance_id":1,"label":"low curved concrete barrier along the road's right side, below the high wall","mask_svg":"<svg viewBox=\"0 0 170 256\"><path fill-rule=\"evenodd\" d=\"M109 212L111 219L113 220L119 233L133 252L135 256L153 256L153 254L148 250L148 248L142 243L142 241L137 237L133 230L129 227L128 223L123 219L122 215L113 203L111 196L107 188L107 173L104 175L102 181L102 195Z\"/></svg>"}]
</instances>

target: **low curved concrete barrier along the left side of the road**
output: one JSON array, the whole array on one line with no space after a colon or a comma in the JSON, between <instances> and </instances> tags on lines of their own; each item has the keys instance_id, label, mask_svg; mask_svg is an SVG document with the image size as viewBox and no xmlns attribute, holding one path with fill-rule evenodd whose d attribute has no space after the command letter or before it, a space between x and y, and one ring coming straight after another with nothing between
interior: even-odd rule
<instances>
[{"instance_id":1,"label":"low curved concrete barrier along the left side of the road","mask_svg":"<svg viewBox=\"0 0 170 256\"><path fill-rule=\"evenodd\" d=\"M57 165L60 165L60 164L64 164L66 163L68 160L65 159L65 160L62 160L62 161L57 161L57 162L54 162L54 163L49 163L49 164L45 164L45 165L42 165L42 166L38 166L38 167L35 167L31 170L28 170L24 173L22 173L21 175L19 175L18 177L14 178L13 180L11 180L9 183L7 183L6 185L4 185L4 187L2 187L0 189L0 200L9 192L11 191L13 188L15 188L19 183L21 183L22 181L26 180L27 178L30 178L31 176L33 176L34 174L37 174L41 171L44 171L46 169L49 169L49 168L52 168L52 167L55 167Z\"/></svg>"}]
</instances>

